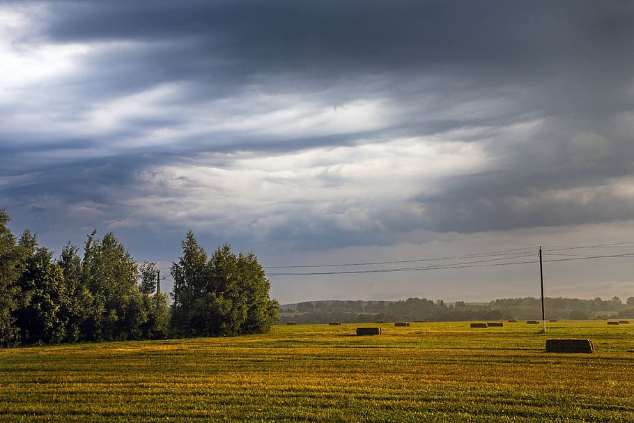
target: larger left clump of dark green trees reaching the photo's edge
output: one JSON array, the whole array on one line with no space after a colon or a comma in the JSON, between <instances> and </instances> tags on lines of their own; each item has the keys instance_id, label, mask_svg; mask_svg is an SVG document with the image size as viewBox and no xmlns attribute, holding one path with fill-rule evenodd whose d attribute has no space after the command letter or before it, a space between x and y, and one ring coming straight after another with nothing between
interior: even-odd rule
<instances>
[{"instance_id":1,"label":"larger left clump of dark green trees reaching the photo's edge","mask_svg":"<svg viewBox=\"0 0 634 423\"><path fill-rule=\"evenodd\" d=\"M167 336L167 295L143 280L155 264L142 272L114 233L90 233L83 259L68 243L54 260L31 231L16 240L8 222L0 210L0 345Z\"/></svg>"}]
</instances>

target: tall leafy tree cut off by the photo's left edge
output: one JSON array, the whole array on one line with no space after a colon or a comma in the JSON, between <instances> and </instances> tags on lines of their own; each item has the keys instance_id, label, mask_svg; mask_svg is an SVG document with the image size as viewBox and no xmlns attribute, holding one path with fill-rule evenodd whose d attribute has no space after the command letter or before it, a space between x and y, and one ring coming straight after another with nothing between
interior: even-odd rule
<instances>
[{"instance_id":1,"label":"tall leafy tree cut off by the photo's left edge","mask_svg":"<svg viewBox=\"0 0 634 423\"><path fill-rule=\"evenodd\" d=\"M12 312L17 309L17 280L22 275L24 261L15 242L15 236L8 229L10 221L4 209L0 209L0 345L14 344L17 328Z\"/></svg>"}]
</instances>

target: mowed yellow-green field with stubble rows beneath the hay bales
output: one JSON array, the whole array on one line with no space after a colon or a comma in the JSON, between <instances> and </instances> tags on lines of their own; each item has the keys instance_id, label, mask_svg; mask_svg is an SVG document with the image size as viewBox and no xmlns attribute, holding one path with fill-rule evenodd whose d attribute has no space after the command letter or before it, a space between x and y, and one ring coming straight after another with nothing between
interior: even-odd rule
<instances>
[{"instance_id":1,"label":"mowed yellow-green field with stubble rows beneath the hay bales","mask_svg":"<svg viewBox=\"0 0 634 423\"><path fill-rule=\"evenodd\" d=\"M0 422L634 422L634 323L380 326L0 350Z\"/></svg>"}]
</instances>

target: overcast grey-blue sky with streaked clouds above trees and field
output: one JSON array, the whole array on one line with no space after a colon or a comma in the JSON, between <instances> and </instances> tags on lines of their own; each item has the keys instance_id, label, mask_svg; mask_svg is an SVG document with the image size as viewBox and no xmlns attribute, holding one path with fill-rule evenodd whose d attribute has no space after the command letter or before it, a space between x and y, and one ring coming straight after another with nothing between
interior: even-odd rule
<instances>
[{"instance_id":1,"label":"overcast grey-blue sky with streaked clouds above trees and field","mask_svg":"<svg viewBox=\"0 0 634 423\"><path fill-rule=\"evenodd\" d=\"M631 1L0 0L0 208L165 273L193 229L280 302L539 296L536 263L455 267L634 252L557 248L634 241L633 47ZM625 299L633 265L545 293Z\"/></svg>"}]
</instances>

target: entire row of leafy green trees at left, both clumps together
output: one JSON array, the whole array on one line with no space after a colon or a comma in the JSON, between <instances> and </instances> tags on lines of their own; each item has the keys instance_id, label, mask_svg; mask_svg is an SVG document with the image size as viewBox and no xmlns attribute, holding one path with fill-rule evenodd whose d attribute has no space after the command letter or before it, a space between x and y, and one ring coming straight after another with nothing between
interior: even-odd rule
<instances>
[{"instance_id":1,"label":"entire row of leafy green trees at left, both clumps together","mask_svg":"<svg viewBox=\"0 0 634 423\"><path fill-rule=\"evenodd\" d=\"M266 332L279 304L254 254L219 247L207 258L192 231L173 263L173 305L155 292L155 263L139 265L113 233L88 234L58 257L28 229L15 237L0 209L0 346Z\"/></svg>"}]
</instances>

